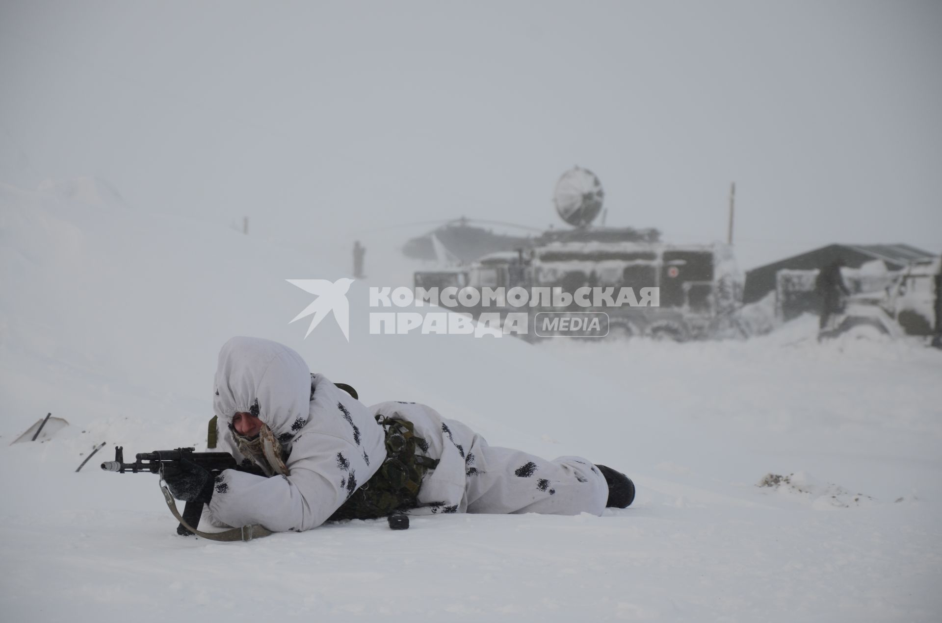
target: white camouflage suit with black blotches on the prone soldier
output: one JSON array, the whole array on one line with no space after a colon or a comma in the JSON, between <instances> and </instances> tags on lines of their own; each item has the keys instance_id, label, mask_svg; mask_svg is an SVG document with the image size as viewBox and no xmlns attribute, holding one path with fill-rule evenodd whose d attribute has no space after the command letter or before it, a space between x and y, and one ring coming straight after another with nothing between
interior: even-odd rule
<instances>
[{"instance_id":1,"label":"white camouflage suit with black blotches on the prone soldier","mask_svg":"<svg viewBox=\"0 0 942 623\"><path fill-rule=\"evenodd\" d=\"M294 350L236 337L219 352L216 395L218 450L250 461L236 448L232 418L252 413L288 451L287 475L270 478L226 470L217 479L208 519L218 526L260 523L274 532L315 528L365 484L386 457L375 415L414 423L424 455L439 459L410 514L545 513L601 515L605 478L577 456L547 461L498 448L431 407L385 402L365 407L323 375L312 375Z\"/></svg>"}]
</instances>

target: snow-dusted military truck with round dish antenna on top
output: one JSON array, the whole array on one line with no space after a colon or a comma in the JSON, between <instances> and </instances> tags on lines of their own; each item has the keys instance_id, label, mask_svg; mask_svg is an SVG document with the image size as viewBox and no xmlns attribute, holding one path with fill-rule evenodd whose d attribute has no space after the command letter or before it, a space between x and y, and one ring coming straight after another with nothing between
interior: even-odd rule
<instances>
[{"instance_id":1,"label":"snow-dusted military truck with round dish antenna on top","mask_svg":"<svg viewBox=\"0 0 942 623\"><path fill-rule=\"evenodd\" d=\"M551 300L538 298L536 306L475 305L457 311L476 318L481 312L528 312L531 327L537 327L536 316L541 312L605 312L606 337L643 335L684 341L741 334L736 312L743 278L732 248L721 243L667 244L660 242L659 232L653 229L593 228L604 196L592 171L570 169L557 184L554 202L557 213L574 229L544 232L532 238L528 247L490 253L470 264L417 272L415 286L560 288L569 295L590 287L610 288L615 296L621 288L632 288L636 296L642 289L657 288L657 307L579 307L575 302L556 307ZM547 336L546 331L540 333ZM535 338L537 333L530 330L528 337Z\"/></svg>"}]
</instances>

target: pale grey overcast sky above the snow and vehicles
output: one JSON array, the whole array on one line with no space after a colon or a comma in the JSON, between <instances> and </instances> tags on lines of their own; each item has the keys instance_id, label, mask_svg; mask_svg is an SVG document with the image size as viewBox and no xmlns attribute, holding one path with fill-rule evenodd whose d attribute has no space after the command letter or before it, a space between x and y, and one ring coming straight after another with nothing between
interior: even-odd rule
<instances>
[{"instance_id":1,"label":"pale grey overcast sky above the snow and vehicles","mask_svg":"<svg viewBox=\"0 0 942 623\"><path fill-rule=\"evenodd\" d=\"M725 237L736 181L745 267L942 250L937 1L4 0L0 89L0 181L273 237L544 227L578 164L678 243Z\"/></svg>"}]
</instances>

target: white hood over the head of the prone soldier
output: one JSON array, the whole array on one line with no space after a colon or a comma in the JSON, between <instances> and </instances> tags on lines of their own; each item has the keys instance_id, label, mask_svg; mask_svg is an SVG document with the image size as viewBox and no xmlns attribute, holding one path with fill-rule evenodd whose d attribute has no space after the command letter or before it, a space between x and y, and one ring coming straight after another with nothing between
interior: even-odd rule
<instances>
[{"instance_id":1,"label":"white hood over the head of the prone soldier","mask_svg":"<svg viewBox=\"0 0 942 623\"><path fill-rule=\"evenodd\" d=\"M311 371L283 344L235 337L219 351L215 394L213 408L230 430L235 413L252 413L288 446L308 420Z\"/></svg>"}]
</instances>

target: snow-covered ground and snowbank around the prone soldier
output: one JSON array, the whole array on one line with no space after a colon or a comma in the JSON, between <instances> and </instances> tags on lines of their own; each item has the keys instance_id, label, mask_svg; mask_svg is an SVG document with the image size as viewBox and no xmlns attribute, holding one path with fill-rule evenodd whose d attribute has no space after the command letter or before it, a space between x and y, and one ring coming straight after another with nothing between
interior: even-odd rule
<instances>
[{"instance_id":1,"label":"snow-covered ground and snowbank around the prone soldier","mask_svg":"<svg viewBox=\"0 0 942 623\"><path fill-rule=\"evenodd\" d=\"M92 180L0 187L5 621L942 616L942 353L866 330L819 344L814 318L748 342L369 336L366 286L408 274L391 245L350 289L349 343L332 320L303 340L287 321L309 296L284 280L345 276L351 242L311 239L141 214ZM154 476L98 458L203 448L234 334L287 343L367 404L426 402L492 444L625 471L638 497L601 518L178 537ZM48 411L70 425L8 445Z\"/></svg>"}]
</instances>

